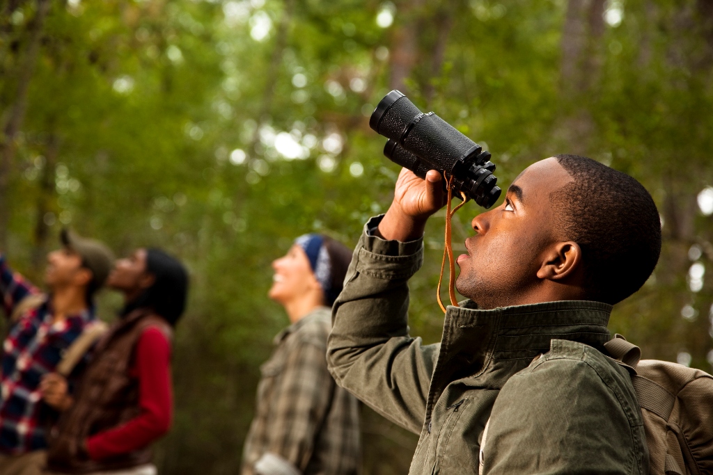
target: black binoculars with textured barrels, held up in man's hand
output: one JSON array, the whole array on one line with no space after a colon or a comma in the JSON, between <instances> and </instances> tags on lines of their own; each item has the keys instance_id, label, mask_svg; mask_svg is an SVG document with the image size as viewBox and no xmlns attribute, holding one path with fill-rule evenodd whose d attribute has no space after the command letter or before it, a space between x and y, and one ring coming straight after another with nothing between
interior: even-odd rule
<instances>
[{"instance_id":1,"label":"black binoculars with textured barrels, held up in man's hand","mask_svg":"<svg viewBox=\"0 0 713 475\"><path fill-rule=\"evenodd\" d=\"M384 155L418 177L429 170L445 172L456 196L463 192L486 209L498 201L501 189L491 154L438 115L422 113L398 90L381 99L369 127L389 139Z\"/></svg>"}]
</instances>

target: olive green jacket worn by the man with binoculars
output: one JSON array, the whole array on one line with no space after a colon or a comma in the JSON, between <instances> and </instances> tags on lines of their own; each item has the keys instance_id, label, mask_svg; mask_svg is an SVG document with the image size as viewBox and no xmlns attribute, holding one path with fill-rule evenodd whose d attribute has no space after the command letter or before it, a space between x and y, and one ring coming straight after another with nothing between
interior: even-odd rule
<instances>
[{"instance_id":1,"label":"olive green jacket worn by the man with binoculars","mask_svg":"<svg viewBox=\"0 0 713 475\"><path fill-rule=\"evenodd\" d=\"M339 385L420 434L409 474L478 474L479 456L485 474L647 474L630 377L595 349L611 306L468 301L448 307L441 343L423 345L407 325L422 241L371 236L378 222L334 304L327 360Z\"/></svg>"}]
</instances>

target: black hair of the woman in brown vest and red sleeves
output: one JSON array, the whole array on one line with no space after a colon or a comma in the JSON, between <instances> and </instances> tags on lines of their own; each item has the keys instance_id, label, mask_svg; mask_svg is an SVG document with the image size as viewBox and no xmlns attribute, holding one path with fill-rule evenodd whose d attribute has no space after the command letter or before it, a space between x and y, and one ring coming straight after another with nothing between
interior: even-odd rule
<instances>
[{"instance_id":1,"label":"black hair of the woman in brown vest and red sleeves","mask_svg":"<svg viewBox=\"0 0 713 475\"><path fill-rule=\"evenodd\" d=\"M146 271L155 277L153 285L127 303L122 315L136 308L149 307L175 326L185 308L188 272L178 259L160 249L146 249Z\"/></svg>"}]
</instances>

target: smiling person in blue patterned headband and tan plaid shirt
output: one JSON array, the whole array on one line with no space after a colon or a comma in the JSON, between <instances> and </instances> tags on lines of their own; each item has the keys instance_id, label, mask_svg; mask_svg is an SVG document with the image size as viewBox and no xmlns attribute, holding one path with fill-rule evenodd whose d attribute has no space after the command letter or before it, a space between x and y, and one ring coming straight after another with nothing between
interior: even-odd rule
<instances>
[{"instance_id":1,"label":"smiling person in blue patterned headband and tan plaid shirt","mask_svg":"<svg viewBox=\"0 0 713 475\"><path fill-rule=\"evenodd\" d=\"M272 262L268 296L292 325L275 337L275 351L260 367L242 475L359 474L359 406L335 384L326 357L329 306L351 260L343 244L306 234Z\"/></svg>"}]
</instances>

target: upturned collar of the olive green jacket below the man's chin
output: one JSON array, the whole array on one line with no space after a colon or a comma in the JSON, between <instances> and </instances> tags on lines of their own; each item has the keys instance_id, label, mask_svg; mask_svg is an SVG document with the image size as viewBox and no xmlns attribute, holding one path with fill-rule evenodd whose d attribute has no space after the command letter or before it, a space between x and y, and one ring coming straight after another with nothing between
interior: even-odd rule
<instances>
[{"instance_id":1,"label":"upturned collar of the olive green jacket below the man's chin","mask_svg":"<svg viewBox=\"0 0 713 475\"><path fill-rule=\"evenodd\" d=\"M438 361L431 378L426 417L443 390L462 380L468 386L499 389L515 372L547 353L551 340L595 348L610 340L612 306L591 301L558 301L478 310L471 301L448 306Z\"/></svg>"}]
</instances>

